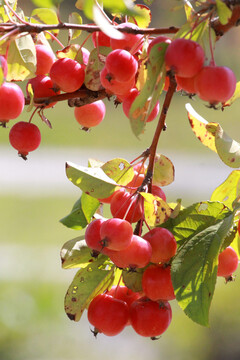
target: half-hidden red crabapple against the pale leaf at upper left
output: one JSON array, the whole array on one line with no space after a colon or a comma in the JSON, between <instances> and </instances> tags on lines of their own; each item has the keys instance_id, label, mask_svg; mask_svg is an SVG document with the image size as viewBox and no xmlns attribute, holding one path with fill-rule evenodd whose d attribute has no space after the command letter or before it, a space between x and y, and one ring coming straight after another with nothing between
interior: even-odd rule
<instances>
[{"instance_id":1,"label":"half-hidden red crabapple against the pale leaf at upper left","mask_svg":"<svg viewBox=\"0 0 240 360\"><path fill-rule=\"evenodd\" d=\"M46 45L36 45L37 67L36 75L46 75L49 73L55 61L53 51Z\"/></svg>"}]
</instances>

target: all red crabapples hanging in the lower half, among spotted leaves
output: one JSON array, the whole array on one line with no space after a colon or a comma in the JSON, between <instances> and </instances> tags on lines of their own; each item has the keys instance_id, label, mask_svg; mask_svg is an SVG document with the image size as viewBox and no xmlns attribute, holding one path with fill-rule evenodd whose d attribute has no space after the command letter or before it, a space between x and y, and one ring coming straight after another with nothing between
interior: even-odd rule
<instances>
[{"instance_id":1,"label":"all red crabapples hanging in the lower half, among spotted leaves","mask_svg":"<svg viewBox=\"0 0 240 360\"><path fill-rule=\"evenodd\" d=\"M139 170L139 164L135 165L136 174ZM159 187L155 186L154 193L157 189L158 196L166 200ZM132 223L141 219L143 209L139 198L131 192L117 190L107 202L113 217L93 220L86 228L86 244L93 256L107 255L120 269L142 269L141 290L134 292L127 285L112 286L90 302L88 320L95 335L114 336L131 325L139 335L155 339L167 330L172 319L170 301L175 299L175 294L171 261L176 255L177 242L162 227L152 228L143 236L134 234ZM138 216L134 215L134 209ZM229 281L237 267L238 255L227 247L219 254L217 275Z\"/></svg>"}]
</instances>

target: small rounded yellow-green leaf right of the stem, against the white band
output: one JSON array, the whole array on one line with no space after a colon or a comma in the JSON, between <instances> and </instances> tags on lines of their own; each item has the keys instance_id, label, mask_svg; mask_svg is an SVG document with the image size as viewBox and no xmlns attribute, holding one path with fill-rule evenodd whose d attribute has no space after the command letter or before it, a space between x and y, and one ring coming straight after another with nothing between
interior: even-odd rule
<instances>
[{"instance_id":1,"label":"small rounded yellow-green leaf right of the stem, against the white band","mask_svg":"<svg viewBox=\"0 0 240 360\"><path fill-rule=\"evenodd\" d=\"M165 155L156 154L153 168L153 184L166 186L174 181L175 169L171 160Z\"/></svg>"}]
</instances>

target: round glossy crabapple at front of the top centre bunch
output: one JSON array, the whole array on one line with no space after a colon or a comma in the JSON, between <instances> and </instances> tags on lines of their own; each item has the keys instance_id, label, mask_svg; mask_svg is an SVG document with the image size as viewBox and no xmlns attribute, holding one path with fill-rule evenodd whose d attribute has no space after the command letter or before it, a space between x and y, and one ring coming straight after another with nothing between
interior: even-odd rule
<instances>
[{"instance_id":1,"label":"round glossy crabapple at front of the top centre bunch","mask_svg":"<svg viewBox=\"0 0 240 360\"><path fill-rule=\"evenodd\" d=\"M122 82L132 79L138 70L137 60L130 52L122 49L110 52L106 58L105 66L117 81Z\"/></svg>"}]
</instances>

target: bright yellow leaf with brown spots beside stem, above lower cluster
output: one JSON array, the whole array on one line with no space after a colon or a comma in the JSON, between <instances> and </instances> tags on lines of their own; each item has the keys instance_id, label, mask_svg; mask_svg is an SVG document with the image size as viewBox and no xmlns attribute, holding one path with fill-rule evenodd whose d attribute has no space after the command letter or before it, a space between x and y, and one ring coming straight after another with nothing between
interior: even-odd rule
<instances>
[{"instance_id":1,"label":"bright yellow leaf with brown spots beside stem, above lower cluster","mask_svg":"<svg viewBox=\"0 0 240 360\"><path fill-rule=\"evenodd\" d=\"M144 214L149 226L164 223L171 215L172 209L160 197L149 193L140 193L144 198Z\"/></svg>"}]
</instances>

